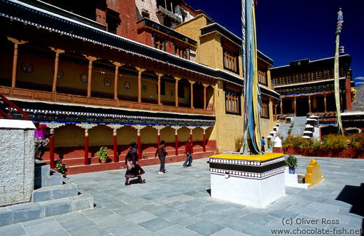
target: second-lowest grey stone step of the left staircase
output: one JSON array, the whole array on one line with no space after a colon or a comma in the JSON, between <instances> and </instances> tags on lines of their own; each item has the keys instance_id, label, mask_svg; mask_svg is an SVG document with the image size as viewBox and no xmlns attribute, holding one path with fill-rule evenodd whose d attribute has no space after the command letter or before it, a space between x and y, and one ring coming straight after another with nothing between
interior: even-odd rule
<instances>
[{"instance_id":1,"label":"second-lowest grey stone step of the left staircase","mask_svg":"<svg viewBox=\"0 0 364 236\"><path fill-rule=\"evenodd\" d=\"M60 186L43 187L33 191L33 202L43 202L55 200L63 197L73 197L78 195L78 185L76 183L65 183Z\"/></svg>"}]
</instances>

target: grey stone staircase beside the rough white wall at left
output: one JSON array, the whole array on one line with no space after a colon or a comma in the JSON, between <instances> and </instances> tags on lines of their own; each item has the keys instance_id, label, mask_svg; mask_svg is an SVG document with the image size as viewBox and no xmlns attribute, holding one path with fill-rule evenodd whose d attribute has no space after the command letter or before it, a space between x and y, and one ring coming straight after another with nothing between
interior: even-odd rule
<instances>
[{"instance_id":1,"label":"grey stone staircase beside the rough white wall at left","mask_svg":"<svg viewBox=\"0 0 364 236\"><path fill-rule=\"evenodd\" d=\"M78 195L76 183L63 184L62 174L53 171L44 162L36 160L31 202L1 207L0 227L93 207L92 195L88 193Z\"/></svg>"}]
</instances>

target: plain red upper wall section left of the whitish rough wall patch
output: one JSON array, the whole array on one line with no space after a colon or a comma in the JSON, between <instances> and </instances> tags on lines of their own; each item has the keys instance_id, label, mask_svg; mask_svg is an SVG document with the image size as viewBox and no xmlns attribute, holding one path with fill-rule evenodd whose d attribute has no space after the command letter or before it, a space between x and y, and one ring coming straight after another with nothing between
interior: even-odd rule
<instances>
[{"instance_id":1,"label":"plain red upper wall section left of the whitish rough wall patch","mask_svg":"<svg viewBox=\"0 0 364 236\"><path fill-rule=\"evenodd\" d=\"M116 34L138 41L135 0L107 0L106 4L111 10L120 13L120 25L116 29Z\"/></svg>"}]
</instances>

